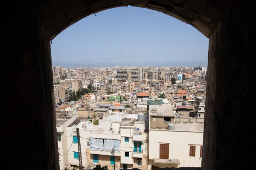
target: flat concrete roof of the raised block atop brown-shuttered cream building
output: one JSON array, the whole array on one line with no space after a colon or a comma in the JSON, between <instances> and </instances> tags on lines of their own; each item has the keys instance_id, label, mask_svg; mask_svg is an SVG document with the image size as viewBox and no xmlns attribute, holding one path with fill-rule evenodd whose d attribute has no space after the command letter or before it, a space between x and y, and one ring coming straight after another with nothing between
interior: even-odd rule
<instances>
[{"instance_id":1,"label":"flat concrete roof of the raised block atop brown-shuttered cream building","mask_svg":"<svg viewBox=\"0 0 256 170\"><path fill-rule=\"evenodd\" d=\"M171 105L149 105L148 111L149 111L148 113L149 116L165 116L165 117L175 116Z\"/></svg>"}]
</instances>

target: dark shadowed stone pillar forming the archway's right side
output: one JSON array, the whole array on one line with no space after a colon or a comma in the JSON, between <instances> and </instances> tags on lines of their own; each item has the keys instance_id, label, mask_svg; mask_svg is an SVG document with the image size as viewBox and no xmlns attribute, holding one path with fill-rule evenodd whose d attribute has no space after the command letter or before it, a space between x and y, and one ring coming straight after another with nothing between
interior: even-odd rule
<instances>
[{"instance_id":1,"label":"dark shadowed stone pillar forming the archway's right side","mask_svg":"<svg viewBox=\"0 0 256 170\"><path fill-rule=\"evenodd\" d=\"M246 169L255 150L252 4L243 1L225 11L209 38L202 170Z\"/></svg>"}]
</instances>

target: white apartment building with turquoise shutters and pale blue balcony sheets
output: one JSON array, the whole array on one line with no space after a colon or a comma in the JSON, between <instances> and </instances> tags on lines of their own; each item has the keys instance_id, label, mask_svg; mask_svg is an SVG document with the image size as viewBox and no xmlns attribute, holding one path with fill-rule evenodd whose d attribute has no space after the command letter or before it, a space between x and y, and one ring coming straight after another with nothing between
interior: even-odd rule
<instances>
[{"instance_id":1,"label":"white apartment building with turquoise shutters and pale blue balcony sheets","mask_svg":"<svg viewBox=\"0 0 256 170\"><path fill-rule=\"evenodd\" d=\"M99 125L88 121L71 123L67 127L67 160L69 166L78 166L76 128L79 128L82 163L85 168L93 164L108 165L109 170L122 168L147 168L147 133L145 123L137 114L110 115L99 119ZM76 122L75 120L74 122ZM115 156L111 150L115 151Z\"/></svg>"}]
</instances>

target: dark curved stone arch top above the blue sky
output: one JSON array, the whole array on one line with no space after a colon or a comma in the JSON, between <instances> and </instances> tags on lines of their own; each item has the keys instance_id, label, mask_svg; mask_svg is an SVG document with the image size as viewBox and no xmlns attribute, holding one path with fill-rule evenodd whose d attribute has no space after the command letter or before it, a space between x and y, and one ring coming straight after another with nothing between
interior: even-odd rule
<instances>
[{"instance_id":1,"label":"dark curved stone arch top above the blue sky","mask_svg":"<svg viewBox=\"0 0 256 170\"><path fill-rule=\"evenodd\" d=\"M163 12L192 25L209 38L221 17L218 5L207 0L56 0L44 3L40 11L45 34L52 40L61 31L93 13L122 6Z\"/></svg>"}]
</instances>

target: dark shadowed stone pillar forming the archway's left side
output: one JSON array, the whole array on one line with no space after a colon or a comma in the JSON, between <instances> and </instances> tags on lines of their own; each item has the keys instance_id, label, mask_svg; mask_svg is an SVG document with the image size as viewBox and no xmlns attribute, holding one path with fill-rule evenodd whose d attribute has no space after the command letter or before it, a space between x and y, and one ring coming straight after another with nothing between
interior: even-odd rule
<instances>
[{"instance_id":1,"label":"dark shadowed stone pillar forming the archway's left side","mask_svg":"<svg viewBox=\"0 0 256 170\"><path fill-rule=\"evenodd\" d=\"M59 170L50 42L35 8L19 5L3 31L4 57L9 61L5 65L11 71L6 71L5 82L12 89L3 105L7 111L2 117L2 164L11 169Z\"/></svg>"}]
</instances>

